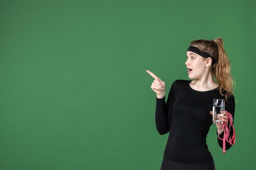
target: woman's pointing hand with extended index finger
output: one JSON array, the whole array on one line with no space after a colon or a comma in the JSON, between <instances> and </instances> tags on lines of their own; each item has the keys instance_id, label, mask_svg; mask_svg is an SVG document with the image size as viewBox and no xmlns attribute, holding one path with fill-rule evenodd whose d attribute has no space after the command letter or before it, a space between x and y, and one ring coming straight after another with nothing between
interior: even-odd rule
<instances>
[{"instance_id":1,"label":"woman's pointing hand with extended index finger","mask_svg":"<svg viewBox=\"0 0 256 170\"><path fill-rule=\"evenodd\" d=\"M157 98L162 99L165 96L165 83L159 79L154 73L146 70L148 74L155 78L151 85L151 89L157 94Z\"/></svg>"}]
</instances>

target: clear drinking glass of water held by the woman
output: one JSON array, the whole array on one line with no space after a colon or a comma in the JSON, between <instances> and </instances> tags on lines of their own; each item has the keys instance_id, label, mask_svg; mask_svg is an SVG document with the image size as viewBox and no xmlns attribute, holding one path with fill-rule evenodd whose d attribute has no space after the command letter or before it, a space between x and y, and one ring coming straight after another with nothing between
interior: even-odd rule
<instances>
[{"instance_id":1,"label":"clear drinking glass of water held by the woman","mask_svg":"<svg viewBox=\"0 0 256 170\"><path fill-rule=\"evenodd\" d=\"M223 121L220 121L220 116L224 114L220 113L220 111L225 110L225 101L224 99L213 99L213 123L214 124L223 124Z\"/></svg>"}]
</instances>

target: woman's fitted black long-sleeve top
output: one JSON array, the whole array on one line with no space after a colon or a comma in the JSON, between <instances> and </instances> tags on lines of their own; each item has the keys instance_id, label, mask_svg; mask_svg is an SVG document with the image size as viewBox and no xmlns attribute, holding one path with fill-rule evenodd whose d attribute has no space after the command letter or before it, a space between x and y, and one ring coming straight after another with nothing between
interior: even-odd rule
<instances>
[{"instance_id":1,"label":"woman's fitted black long-sleeve top","mask_svg":"<svg viewBox=\"0 0 256 170\"><path fill-rule=\"evenodd\" d=\"M191 80L173 82L167 101L165 97L156 98L155 124L160 135L169 132L164 150L164 158L180 163L205 164L213 159L206 144L206 137L213 124L210 111L213 99L225 99L220 90L195 91L190 86ZM234 95L225 99L225 110L233 116L235 113ZM229 124L228 124L229 127ZM222 148L222 140L218 138ZM231 129L230 134L233 134ZM224 132L219 137L223 139ZM231 136L232 137L232 136ZM226 141L226 150L231 145Z\"/></svg>"}]
</instances>

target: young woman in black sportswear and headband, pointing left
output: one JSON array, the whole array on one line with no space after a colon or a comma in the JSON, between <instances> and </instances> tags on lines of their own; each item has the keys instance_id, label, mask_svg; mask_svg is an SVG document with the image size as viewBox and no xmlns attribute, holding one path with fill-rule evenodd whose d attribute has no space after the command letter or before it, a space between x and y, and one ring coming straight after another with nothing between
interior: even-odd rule
<instances>
[{"instance_id":1,"label":"young woman in black sportswear and headband, pointing left","mask_svg":"<svg viewBox=\"0 0 256 170\"><path fill-rule=\"evenodd\" d=\"M155 124L160 135L169 132L161 170L215 170L206 137L212 121L213 99L225 99L224 116L234 120L235 101L230 63L222 38L190 43L185 62L189 78L173 82L165 102L165 82L155 74L151 85L156 93ZM216 124L217 140L223 148L222 124ZM229 127L229 123L228 123ZM231 129L230 134L233 134ZM218 135L221 139L218 138ZM231 147L226 142L226 150Z\"/></svg>"}]
</instances>

